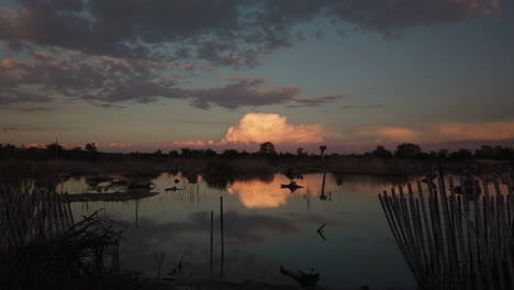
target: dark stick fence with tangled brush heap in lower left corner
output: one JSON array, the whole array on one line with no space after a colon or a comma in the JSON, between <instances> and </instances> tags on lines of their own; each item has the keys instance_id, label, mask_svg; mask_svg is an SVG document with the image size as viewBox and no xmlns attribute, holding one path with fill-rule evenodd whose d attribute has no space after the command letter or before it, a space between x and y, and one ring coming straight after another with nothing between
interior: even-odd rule
<instances>
[{"instance_id":1,"label":"dark stick fence with tangled brush heap in lower left corner","mask_svg":"<svg viewBox=\"0 0 514 290\"><path fill-rule=\"evenodd\" d=\"M52 187L0 183L0 289L87 289L112 280L123 227L99 213L75 222Z\"/></svg>"}]
</instances>

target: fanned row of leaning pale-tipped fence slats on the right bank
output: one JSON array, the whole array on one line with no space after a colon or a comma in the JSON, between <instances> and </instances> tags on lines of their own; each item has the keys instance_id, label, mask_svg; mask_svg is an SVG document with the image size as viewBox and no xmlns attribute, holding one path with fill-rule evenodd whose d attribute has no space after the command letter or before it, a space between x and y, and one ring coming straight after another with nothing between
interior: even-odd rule
<instances>
[{"instance_id":1,"label":"fanned row of leaning pale-tipped fence slats on the right bank","mask_svg":"<svg viewBox=\"0 0 514 290\"><path fill-rule=\"evenodd\" d=\"M512 180L458 181L472 186L439 178L379 194L420 289L514 289Z\"/></svg>"}]
</instances>

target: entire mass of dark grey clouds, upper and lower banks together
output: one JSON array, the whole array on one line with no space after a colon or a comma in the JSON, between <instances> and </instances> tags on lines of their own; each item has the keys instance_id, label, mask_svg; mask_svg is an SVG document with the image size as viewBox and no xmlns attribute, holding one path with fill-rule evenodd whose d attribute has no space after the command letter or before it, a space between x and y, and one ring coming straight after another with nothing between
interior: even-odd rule
<instances>
[{"instance_id":1,"label":"entire mass of dark grey clouds, upper and lower banks together","mask_svg":"<svg viewBox=\"0 0 514 290\"><path fill-rule=\"evenodd\" d=\"M0 4L0 41L33 62L0 64L0 104L49 102L48 96L103 108L158 98L236 109L289 103L315 107L338 98L300 98L297 87L259 78L225 78L217 88L185 88L198 71L254 67L279 47L304 38L300 29L327 18L336 30L386 37L410 26L451 24L490 14L503 0L19 0ZM312 29L312 26L310 27ZM309 29L309 30L310 30ZM319 30L316 37L323 35ZM22 49L23 48L23 49ZM72 49L72 52L69 52ZM182 81L182 82L181 82ZM21 92L36 87L44 96ZM365 108L365 107L359 107ZM371 108L371 107L369 107ZM348 109L348 108L343 108Z\"/></svg>"}]
</instances>

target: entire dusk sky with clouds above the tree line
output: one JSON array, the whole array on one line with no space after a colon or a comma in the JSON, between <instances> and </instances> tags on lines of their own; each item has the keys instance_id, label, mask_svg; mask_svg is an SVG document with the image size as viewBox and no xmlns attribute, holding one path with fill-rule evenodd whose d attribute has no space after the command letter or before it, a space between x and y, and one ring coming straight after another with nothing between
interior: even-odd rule
<instances>
[{"instance_id":1,"label":"entire dusk sky with clouds above the tree line","mask_svg":"<svg viewBox=\"0 0 514 290\"><path fill-rule=\"evenodd\" d=\"M0 143L514 146L511 0L0 0Z\"/></svg>"}]
</instances>

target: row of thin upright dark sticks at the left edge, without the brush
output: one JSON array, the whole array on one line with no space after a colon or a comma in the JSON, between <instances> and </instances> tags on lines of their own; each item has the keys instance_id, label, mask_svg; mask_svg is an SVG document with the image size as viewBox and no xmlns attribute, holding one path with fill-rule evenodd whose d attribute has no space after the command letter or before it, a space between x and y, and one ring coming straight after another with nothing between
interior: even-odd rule
<instances>
[{"instance_id":1,"label":"row of thin upright dark sticks at the left edge, without the brush","mask_svg":"<svg viewBox=\"0 0 514 290\"><path fill-rule=\"evenodd\" d=\"M0 185L0 253L59 236L74 224L69 202L55 190Z\"/></svg>"}]
</instances>

